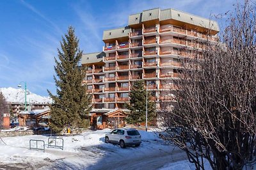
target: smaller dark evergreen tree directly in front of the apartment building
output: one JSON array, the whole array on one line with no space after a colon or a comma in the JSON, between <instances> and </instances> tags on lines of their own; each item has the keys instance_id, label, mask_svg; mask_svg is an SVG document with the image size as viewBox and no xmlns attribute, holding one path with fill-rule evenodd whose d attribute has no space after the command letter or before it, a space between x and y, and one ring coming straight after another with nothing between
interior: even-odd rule
<instances>
[{"instance_id":1,"label":"smaller dark evergreen tree directly in front of the apartment building","mask_svg":"<svg viewBox=\"0 0 256 170\"><path fill-rule=\"evenodd\" d=\"M136 124L145 122L146 120L146 102L148 101L148 121L156 118L156 103L150 101L151 94L145 89L145 83L143 80L134 82L129 94L130 103L126 103L125 107L131 111L127 117L127 122L130 124Z\"/></svg>"}]
</instances>

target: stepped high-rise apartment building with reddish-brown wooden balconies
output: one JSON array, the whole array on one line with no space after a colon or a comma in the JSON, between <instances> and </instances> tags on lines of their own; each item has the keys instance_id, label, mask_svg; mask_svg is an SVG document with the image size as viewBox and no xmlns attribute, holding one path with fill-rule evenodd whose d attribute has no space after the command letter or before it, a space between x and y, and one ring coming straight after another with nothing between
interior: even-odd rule
<instances>
[{"instance_id":1,"label":"stepped high-rise apartment building with reddish-brown wooden balconies","mask_svg":"<svg viewBox=\"0 0 256 170\"><path fill-rule=\"evenodd\" d=\"M180 59L195 57L216 41L218 23L183 11L159 8L129 16L127 27L103 32L102 52L84 54L84 81L94 110L125 110L136 80L144 80L158 109L173 101ZM199 53L198 53L199 52ZM168 105L168 104L167 104Z\"/></svg>"}]
</instances>

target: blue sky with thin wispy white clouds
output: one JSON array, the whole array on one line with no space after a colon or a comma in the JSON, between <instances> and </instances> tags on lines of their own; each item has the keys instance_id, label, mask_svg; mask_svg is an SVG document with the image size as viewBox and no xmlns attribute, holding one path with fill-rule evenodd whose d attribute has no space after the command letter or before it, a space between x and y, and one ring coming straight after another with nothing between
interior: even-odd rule
<instances>
[{"instance_id":1,"label":"blue sky with thin wispy white clouds","mask_svg":"<svg viewBox=\"0 0 256 170\"><path fill-rule=\"evenodd\" d=\"M0 87L17 88L20 81L26 81L33 93L48 96L47 89L55 93L54 57L69 25L75 27L84 53L99 52L104 45L103 31L127 25L131 14L152 8L175 8L209 18L232 10L234 3L234 0L1 0Z\"/></svg>"}]
</instances>

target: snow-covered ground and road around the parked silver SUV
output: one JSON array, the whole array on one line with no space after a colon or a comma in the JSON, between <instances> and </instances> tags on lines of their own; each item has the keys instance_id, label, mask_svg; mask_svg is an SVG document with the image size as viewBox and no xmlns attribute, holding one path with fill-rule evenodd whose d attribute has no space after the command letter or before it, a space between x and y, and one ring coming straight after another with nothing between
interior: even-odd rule
<instances>
[{"instance_id":1,"label":"snow-covered ground and road around the parked silver SUV","mask_svg":"<svg viewBox=\"0 0 256 170\"><path fill-rule=\"evenodd\" d=\"M109 131L64 136L63 150L46 146L45 152L29 150L29 140L41 139L47 145L47 136L3 138L7 145L0 141L0 169L195 169L186 161L184 152L154 132L140 131L141 146L122 149L104 143Z\"/></svg>"}]
</instances>

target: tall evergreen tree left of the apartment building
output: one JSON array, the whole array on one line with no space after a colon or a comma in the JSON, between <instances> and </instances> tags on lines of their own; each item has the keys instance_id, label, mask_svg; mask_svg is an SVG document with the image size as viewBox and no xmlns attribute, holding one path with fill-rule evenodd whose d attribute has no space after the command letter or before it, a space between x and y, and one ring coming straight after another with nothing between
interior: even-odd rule
<instances>
[{"instance_id":1,"label":"tall evergreen tree left of the apartment building","mask_svg":"<svg viewBox=\"0 0 256 170\"><path fill-rule=\"evenodd\" d=\"M79 66L83 52L79 49L74 28L68 27L68 33L62 38L61 50L54 66L56 76L56 96L49 90L52 97L51 128L60 132L64 127L84 127L86 116L92 109L92 97L87 93L87 86L82 85L85 68Z\"/></svg>"}]
</instances>

